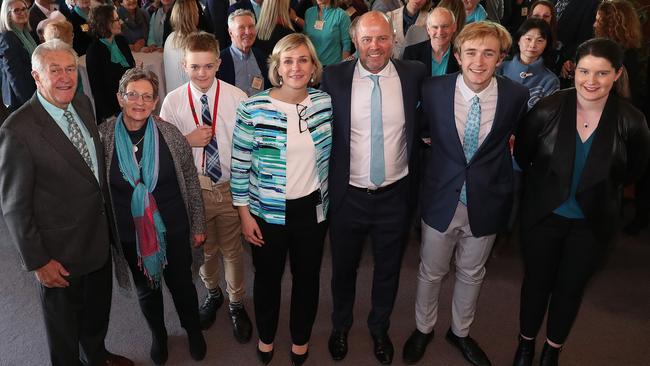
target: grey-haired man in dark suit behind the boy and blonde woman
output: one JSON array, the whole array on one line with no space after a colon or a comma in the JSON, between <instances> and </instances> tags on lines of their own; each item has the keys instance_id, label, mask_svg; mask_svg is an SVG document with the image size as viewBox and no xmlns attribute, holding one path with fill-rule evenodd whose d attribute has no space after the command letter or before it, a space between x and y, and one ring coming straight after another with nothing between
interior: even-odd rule
<instances>
[{"instance_id":1,"label":"grey-haired man in dark suit behind the boy and blonde woman","mask_svg":"<svg viewBox=\"0 0 650 366\"><path fill-rule=\"evenodd\" d=\"M270 88L266 59L262 51L253 47L257 37L255 14L245 9L230 13L228 34L232 44L221 50L217 77L243 90L249 97Z\"/></svg>"}]
</instances>

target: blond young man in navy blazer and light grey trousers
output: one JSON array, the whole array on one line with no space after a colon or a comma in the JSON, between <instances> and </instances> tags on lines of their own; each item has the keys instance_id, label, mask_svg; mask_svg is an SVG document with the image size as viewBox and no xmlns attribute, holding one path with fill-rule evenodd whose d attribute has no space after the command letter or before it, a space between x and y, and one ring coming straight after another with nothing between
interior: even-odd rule
<instances>
[{"instance_id":1,"label":"blond young man in navy blazer and light grey trousers","mask_svg":"<svg viewBox=\"0 0 650 366\"><path fill-rule=\"evenodd\" d=\"M513 196L508 140L526 113L528 91L494 72L512 40L501 25L466 25L454 41L461 73L422 85L431 149L424 168L421 262L415 300L417 329L404 345L412 364L433 338L440 283L455 255L452 322L446 338L473 365L490 361L469 336L496 233L508 220ZM454 254L455 253L455 254Z\"/></svg>"}]
</instances>

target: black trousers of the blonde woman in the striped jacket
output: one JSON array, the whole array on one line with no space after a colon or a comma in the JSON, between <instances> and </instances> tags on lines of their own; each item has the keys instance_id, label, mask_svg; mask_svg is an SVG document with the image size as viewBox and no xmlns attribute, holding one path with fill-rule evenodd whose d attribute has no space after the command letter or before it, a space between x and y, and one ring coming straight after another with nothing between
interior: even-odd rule
<instances>
[{"instance_id":1,"label":"black trousers of the blonde woman in the striped jacket","mask_svg":"<svg viewBox=\"0 0 650 366\"><path fill-rule=\"evenodd\" d=\"M320 192L287 200L285 225L269 224L255 217L264 237L261 247L251 245L255 280L253 300L260 340L273 343L278 329L282 275L289 254L291 266L291 308L289 329L293 344L309 342L318 310L320 267L326 222L317 223L316 205Z\"/></svg>"}]
</instances>

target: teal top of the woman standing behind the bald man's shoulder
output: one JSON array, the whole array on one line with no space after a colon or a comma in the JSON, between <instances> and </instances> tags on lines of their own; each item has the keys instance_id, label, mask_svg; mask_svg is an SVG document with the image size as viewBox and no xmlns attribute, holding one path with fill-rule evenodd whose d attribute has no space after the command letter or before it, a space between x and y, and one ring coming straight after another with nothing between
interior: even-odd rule
<instances>
[{"instance_id":1,"label":"teal top of the woman standing behind the bald man's shoulder","mask_svg":"<svg viewBox=\"0 0 650 366\"><path fill-rule=\"evenodd\" d=\"M350 52L352 42L348 30L350 17L341 8L323 9L323 29L314 28L318 20L318 6L312 6L305 13L304 33L309 36L318 59L323 66L339 63L343 60L343 52Z\"/></svg>"}]
</instances>

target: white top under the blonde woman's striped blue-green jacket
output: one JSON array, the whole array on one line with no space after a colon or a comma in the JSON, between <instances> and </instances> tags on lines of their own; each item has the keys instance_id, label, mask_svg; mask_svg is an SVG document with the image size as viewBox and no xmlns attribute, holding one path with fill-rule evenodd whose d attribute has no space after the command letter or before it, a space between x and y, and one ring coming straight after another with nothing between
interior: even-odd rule
<instances>
[{"instance_id":1,"label":"white top under the blonde woman's striped blue-green jacket","mask_svg":"<svg viewBox=\"0 0 650 366\"><path fill-rule=\"evenodd\" d=\"M305 121L300 122L296 104L270 98L271 103L287 116L287 185L286 199L308 196L319 188L316 172L316 147ZM301 105L310 107L311 99ZM300 132L299 122L303 132Z\"/></svg>"}]
</instances>

